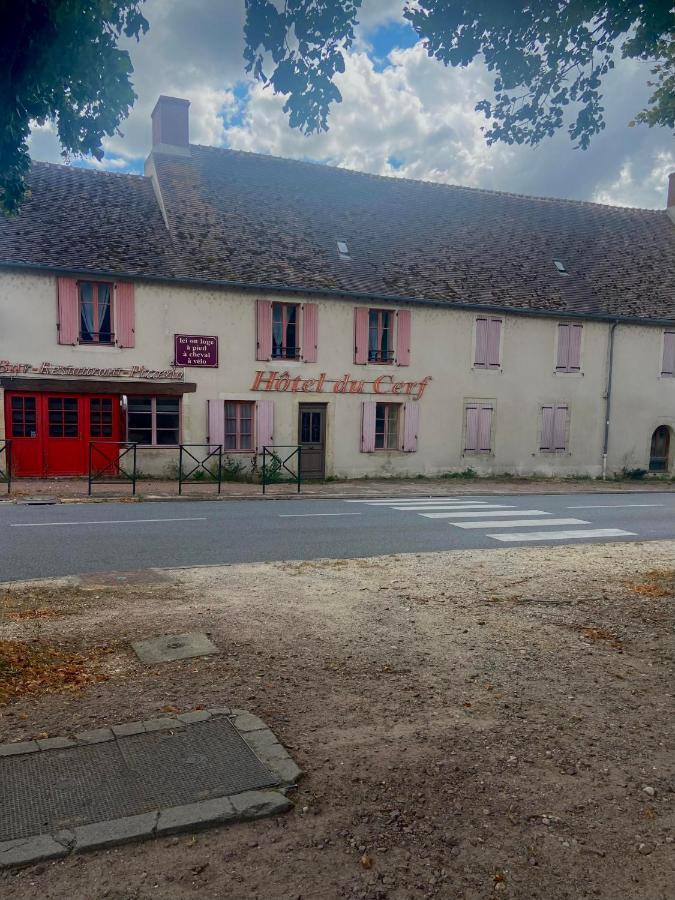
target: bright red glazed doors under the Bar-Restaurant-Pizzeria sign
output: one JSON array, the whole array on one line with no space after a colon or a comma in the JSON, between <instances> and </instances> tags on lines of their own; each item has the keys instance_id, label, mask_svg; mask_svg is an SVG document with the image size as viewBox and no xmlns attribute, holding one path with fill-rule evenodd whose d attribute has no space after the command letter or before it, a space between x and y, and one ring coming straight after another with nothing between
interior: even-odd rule
<instances>
[{"instance_id":1,"label":"bright red glazed doors under the Bar-Restaurant-Pizzeria sign","mask_svg":"<svg viewBox=\"0 0 675 900\"><path fill-rule=\"evenodd\" d=\"M5 429L12 441L15 477L86 475L90 441L119 441L119 397L96 394L5 394ZM117 448L95 448L94 467Z\"/></svg>"}]
</instances>

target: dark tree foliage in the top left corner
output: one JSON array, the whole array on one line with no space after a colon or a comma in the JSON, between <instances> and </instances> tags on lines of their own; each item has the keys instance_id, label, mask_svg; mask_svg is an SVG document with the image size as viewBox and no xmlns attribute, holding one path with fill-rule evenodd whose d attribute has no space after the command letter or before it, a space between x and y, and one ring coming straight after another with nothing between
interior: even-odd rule
<instances>
[{"instance_id":1,"label":"dark tree foliage in the top left corner","mask_svg":"<svg viewBox=\"0 0 675 900\"><path fill-rule=\"evenodd\" d=\"M148 30L143 0L25 0L0 11L0 210L26 194L31 122L53 122L63 155L103 156L136 95L122 34Z\"/></svg>"}]
</instances>

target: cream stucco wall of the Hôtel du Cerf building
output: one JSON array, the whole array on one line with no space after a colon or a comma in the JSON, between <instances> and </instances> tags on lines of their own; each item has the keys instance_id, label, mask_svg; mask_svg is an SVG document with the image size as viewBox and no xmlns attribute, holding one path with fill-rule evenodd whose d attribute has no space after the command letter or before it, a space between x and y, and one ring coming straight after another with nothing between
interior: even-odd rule
<instances>
[{"instance_id":1,"label":"cream stucco wall of the H\u00f4tel du Cerf building","mask_svg":"<svg viewBox=\"0 0 675 900\"><path fill-rule=\"evenodd\" d=\"M274 444L295 445L299 406L311 402L325 404L328 476L438 475L466 468L480 474L602 473L609 321L499 314L499 365L487 370L474 365L479 311L414 303L405 307L411 311L409 365L364 365L354 362L354 308L403 307L379 301L369 304L347 296L315 295L311 302L318 311L316 362L261 361L256 359L256 301L302 304L306 297L278 292L266 296L248 290L143 279L135 282L134 291L133 348L70 346L58 343L56 276L39 271L1 271L0 417L6 406L4 393L12 390L16 376L12 367L17 364L39 368L49 362L96 369L143 366L161 371L173 365L176 334L214 335L219 339L218 367L183 370L184 381L196 385L196 390L184 393L180 400L183 443L202 444L207 439L214 444L221 442L208 435L207 401L266 399L274 404ZM578 372L557 369L558 325L569 321L583 326ZM654 429L665 425L671 435L675 431L675 378L661 374L663 341L661 325L621 323L615 329L608 473L624 467L648 469ZM259 372L265 375L258 376L259 389L253 390ZM270 378L273 372L276 378ZM285 373L288 377L280 379ZM361 392L336 392L336 382L339 384L346 375L352 381L365 382ZM34 382L35 390L40 390L44 381L31 372L21 377L23 385L27 379ZM58 377L50 383L53 385ZM82 384L92 380L96 379L80 378ZM105 379L98 381L103 385ZM124 381L115 379L120 395L119 385ZM130 381L138 383L138 379ZM148 382L148 395L163 381ZM303 383L310 389L303 391ZM320 392L316 390L318 384ZM398 394L392 393L394 384L402 385ZM424 387L420 391L421 384ZM421 396L414 399L418 393ZM363 403L373 401L418 405L414 452L362 451ZM466 407L472 401L485 401L492 408L489 449L466 449ZM565 448L542 451L542 407L556 404L568 410ZM9 430L9 423L5 426L0 418L0 436L9 437ZM670 472L674 469L674 445L671 440L667 462ZM248 465L253 453L243 450L229 455ZM176 463L177 451L172 447L140 451L139 467L143 471L159 474L175 468Z\"/></svg>"}]
</instances>

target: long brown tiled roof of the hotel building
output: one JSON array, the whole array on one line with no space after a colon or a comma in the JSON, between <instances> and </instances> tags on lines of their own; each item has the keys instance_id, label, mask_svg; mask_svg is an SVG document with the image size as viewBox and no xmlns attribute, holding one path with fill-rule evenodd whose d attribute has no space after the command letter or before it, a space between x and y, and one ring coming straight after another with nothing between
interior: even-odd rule
<instances>
[{"instance_id":1,"label":"long brown tiled roof of the hotel building","mask_svg":"<svg viewBox=\"0 0 675 900\"><path fill-rule=\"evenodd\" d=\"M154 161L168 231L147 179L37 164L26 209L0 223L0 263L675 319L675 224L665 211L194 145L189 157ZM107 212L92 210L100 205Z\"/></svg>"}]
</instances>

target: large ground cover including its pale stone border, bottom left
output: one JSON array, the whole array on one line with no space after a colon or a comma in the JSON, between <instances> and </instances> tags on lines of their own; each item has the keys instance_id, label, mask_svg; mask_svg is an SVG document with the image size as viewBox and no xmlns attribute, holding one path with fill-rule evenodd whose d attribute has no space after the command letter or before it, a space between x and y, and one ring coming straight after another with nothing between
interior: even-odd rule
<instances>
[{"instance_id":1,"label":"large ground cover including its pale stone border, bottom left","mask_svg":"<svg viewBox=\"0 0 675 900\"><path fill-rule=\"evenodd\" d=\"M300 774L244 710L1 744L0 868L284 812Z\"/></svg>"}]
</instances>

